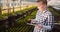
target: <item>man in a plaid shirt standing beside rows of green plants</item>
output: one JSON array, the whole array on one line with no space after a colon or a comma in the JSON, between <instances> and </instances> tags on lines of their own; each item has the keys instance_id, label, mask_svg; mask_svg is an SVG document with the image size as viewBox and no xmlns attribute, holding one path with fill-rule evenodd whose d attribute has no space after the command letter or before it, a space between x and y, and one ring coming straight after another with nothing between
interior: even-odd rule
<instances>
[{"instance_id":1,"label":"man in a plaid shirt standing beside rows of green plants","mask_svg":"<svg viewBox=\"0 0 60 32\"><path fill-rule=\"evenodd\" d=\"M53 16L47 9L47 0L37 0L38 11L31 23L36 23L33 32L47 32L53 28Z\"/></svg>"}]
</instances>

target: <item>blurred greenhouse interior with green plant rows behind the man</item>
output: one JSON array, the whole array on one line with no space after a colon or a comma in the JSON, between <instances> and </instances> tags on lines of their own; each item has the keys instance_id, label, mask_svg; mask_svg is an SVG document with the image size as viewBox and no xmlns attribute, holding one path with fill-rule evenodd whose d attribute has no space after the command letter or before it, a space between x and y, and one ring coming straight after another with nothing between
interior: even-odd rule
<instances>
[{"instance_id":1,"label":"blurred greenhouse interior with green plant rows behind the man","mask_svg":"<svg viewBox=\"0 0 60 32\"><path fill-rule=\"evenodd\" d=\"M53 5L48 5L54 15L55 26L51 32L60 32L60 5ZM0 0L0 32L33 32L34 26L27 23L35 19L37 10L32 0Z\"/></svg>"}]
</instances>

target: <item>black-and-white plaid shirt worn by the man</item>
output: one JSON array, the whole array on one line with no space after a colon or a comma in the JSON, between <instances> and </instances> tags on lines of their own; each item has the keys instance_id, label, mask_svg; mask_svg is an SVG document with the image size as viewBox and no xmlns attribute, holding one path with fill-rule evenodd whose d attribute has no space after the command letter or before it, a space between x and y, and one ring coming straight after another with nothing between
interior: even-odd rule
<instances>
[{"instance_id":1,"label":"black-and-white plaid shirt worn by the man","mask_svg":"<svg viewBox=\"0 0 60 32\"><path fill-rule=\"evenodd\" d=\"M37 29L36 26L34 28L34 32L46 32L47 30L51 30L53 28L54 18L50 11L37 11L36 18L34 23L43 25L41 30Z\"/></svg>"}]
</instances>

